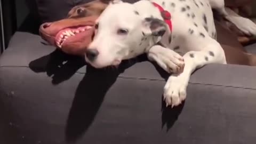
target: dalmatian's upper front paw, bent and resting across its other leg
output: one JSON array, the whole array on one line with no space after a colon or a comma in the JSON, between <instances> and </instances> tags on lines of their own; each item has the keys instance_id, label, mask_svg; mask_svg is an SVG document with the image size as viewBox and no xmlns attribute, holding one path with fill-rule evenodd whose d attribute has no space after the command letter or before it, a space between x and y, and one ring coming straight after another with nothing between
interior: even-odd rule
<instances>
[{"instance_id":1,"label":"dalmatian's upper front paw, bent and resting across its other leg","mask_svg":"<svg viewBox=\"0 0 256 144\"><path fill-rule=\"evenodd\" d=\"M179 73L184 68L182 56L171 49L166 49L161 45L154 45L147 51L148 59L155 61L168 73Z\"/></svg>"}]
</instances>

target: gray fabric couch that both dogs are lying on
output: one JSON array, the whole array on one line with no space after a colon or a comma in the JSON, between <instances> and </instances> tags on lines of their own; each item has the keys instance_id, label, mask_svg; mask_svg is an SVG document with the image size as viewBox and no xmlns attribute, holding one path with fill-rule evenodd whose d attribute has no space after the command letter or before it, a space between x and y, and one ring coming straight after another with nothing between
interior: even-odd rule
<instances>
[{"instance_id":1,"label":"gray fabric couch that both dogs are lying on","mask_svg":"<svg viewBox=\"0 0 256 144\"><path fill-rule=\"evenodd\" d=\"M162 101L167 74L145 55L94 69L18 30L0 56L0 143L255 143L255 75L256 67L207 65L171 109Z\"/></svg>"}]
</instances>

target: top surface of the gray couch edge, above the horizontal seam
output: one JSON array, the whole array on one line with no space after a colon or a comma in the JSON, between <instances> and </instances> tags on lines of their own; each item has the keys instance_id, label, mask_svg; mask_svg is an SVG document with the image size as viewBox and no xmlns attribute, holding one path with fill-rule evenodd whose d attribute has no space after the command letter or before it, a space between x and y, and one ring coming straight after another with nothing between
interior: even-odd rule
<instances>
[{"instance_id":1,"label":"top surface of the gray couch edge, above the horizontal seam","mask_svg":"<svg viewBox=\"0 0 256 144\"><path fill-rule=\"evenodd\" d=\"M46 73L55 84L66 81L75 73L86 73L83 58L67 55L43 42L38 35L15 33L9 48L0 57L0 67L29 67L36 73ZM161 68L152 65L145 55L124 61L119 69L103 70L121 73L119 77L122 78L150 81L164 81L168 76ZM256 67L211 64L198 69L191 76L190 83L256 89L256 79L252 78L255 73Z\"/></svg>"}]
</instances>

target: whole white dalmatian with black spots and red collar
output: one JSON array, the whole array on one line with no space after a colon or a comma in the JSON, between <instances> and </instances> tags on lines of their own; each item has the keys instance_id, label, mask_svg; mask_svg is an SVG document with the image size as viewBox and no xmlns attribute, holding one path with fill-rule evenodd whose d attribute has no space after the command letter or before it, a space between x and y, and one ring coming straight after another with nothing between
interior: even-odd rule
<instances>
[{"instance_id":1,"label":"whole white dalmatian with black spots and red collar","mask_svg":"<svg viewBox=\"0 0 256 144\"><path fill-rule=\"evenodd\" d=\"M111 1L95 23L85 60L103 68L147 53L149 60L171 73L164 86L164 100L166 106L178 106L186 99L193 71L209 63L226 64L216 41L212 9L256 35L254 24L244 27L224 6L224 0Z\"/></svg>"}]
</instances>

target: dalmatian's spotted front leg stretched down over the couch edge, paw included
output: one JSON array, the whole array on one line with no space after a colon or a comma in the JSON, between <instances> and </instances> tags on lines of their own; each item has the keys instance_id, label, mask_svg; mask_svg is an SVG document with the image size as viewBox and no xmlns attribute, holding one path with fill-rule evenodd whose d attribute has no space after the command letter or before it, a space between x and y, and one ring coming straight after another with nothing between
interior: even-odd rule
<instances>
[{"instance_id":1,"label":"dalmatian's spotted front leg stretched down over the couch edge, paw included","mask_svg":"<svg viewBox=\"0 0 256 144\"><path fill-rule=\"evenodd\" d=\"M189 51L183 55L185 67L182 73L172 74L164 86L164 99L166 106L180 105L186 99L186 90L191 73L209 63L226 64L225 53L215 39L205 39L205 47L201 51ZM203 44L202 44L203 45Z\"/></svg>"}]
</instances>

